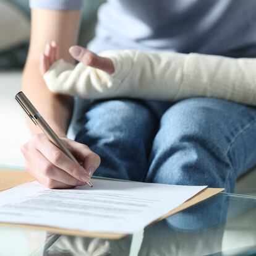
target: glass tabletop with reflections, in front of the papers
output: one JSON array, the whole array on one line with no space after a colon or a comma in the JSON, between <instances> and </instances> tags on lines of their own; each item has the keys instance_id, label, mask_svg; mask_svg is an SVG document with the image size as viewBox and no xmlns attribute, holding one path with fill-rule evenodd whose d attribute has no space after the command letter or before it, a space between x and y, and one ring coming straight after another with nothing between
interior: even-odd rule
<instances>
[{"instance_id":1,"label":"glass tabletop with reflections, in front of the papers","mask_svg":"<svg viewBox=\"0 0 256 256\"><path fill-rule=\"evenodd\" d=\"M222 192L119 240L0 226L0 255L256 255L256 197Z\"/></svg>"}]
</instances>

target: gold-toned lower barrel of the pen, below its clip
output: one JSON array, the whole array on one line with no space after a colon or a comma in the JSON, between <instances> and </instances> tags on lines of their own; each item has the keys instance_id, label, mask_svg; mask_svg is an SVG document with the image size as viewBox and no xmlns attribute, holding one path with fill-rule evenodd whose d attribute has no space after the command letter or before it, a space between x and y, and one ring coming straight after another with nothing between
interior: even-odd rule
<instances>
[{"instance_id":1,"label":"gold-toned lower barrel of the pen, below its clip","mask_svg":"<svg viewBox=\"0 0 256 256\"><path fill-rule=\"evenodd\" d=\"M64 143L62 142L61 139L59 139L58 135L54 132L53 129L51 129L51 127L49 127L49 125L47 124L47 122L45 121L45 119L43 119L43 117L38 117L38 119L36 119L36 123L38 124L38 126L41 128L41 130L43 130L43 132L46 134L46 136L48 137L48 139L54 144L56 145L56 147L58 147L61 151L63 151L63 153L65 155L67 155L71 160L73 160L75 163L79 163L75 157L72 155L72 153L66 148L66 146L64 145Z\"/></svg>"}]
</instances>

